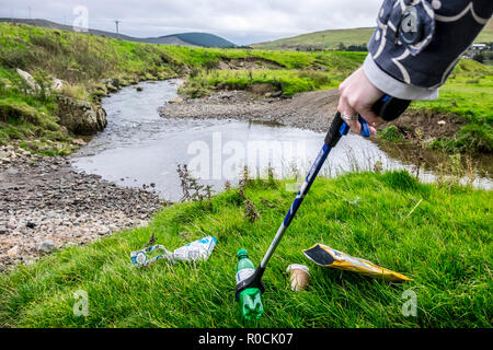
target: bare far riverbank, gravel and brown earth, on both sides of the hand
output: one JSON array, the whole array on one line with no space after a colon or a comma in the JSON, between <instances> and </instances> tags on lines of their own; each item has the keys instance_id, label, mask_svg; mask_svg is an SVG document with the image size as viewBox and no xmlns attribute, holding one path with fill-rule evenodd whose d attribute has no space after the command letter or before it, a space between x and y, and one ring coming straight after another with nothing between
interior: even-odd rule
<instances>
[{"instance_id":1,"label":"bare far riverbank, gravel and brown earth, on both sides of the hand","mask_svg":"<svg viewBox=\"0 0 493 350\"><path fill-rule=\"evenodd\" d=\"M299 93L290 98L265 97L248 91L220 91L200 98L177 98L160 107L159 113L163 118L253 120L323 133L336 113L337 102L336 89ZM411 108L399 119L378 125L377 137L371 140L408 164L421 163L420 166L429 170L439 165L448 170L450 154L459 151L450 153L433 144L455 138L465 124L458 115ZM395 128L395 139L386 138L389 127ZM461 176L479 171L481 176L490 177L493 173L491 153L466 154L461 156L460 166Z\"/></svg>"}]
</instances>

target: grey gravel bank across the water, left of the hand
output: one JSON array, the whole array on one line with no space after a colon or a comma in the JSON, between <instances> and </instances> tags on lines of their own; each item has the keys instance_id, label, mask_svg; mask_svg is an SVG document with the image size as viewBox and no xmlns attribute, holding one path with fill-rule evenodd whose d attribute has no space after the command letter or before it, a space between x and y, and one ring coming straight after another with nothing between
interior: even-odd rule
<instances>
[{"instance_id":1,"label":"grey gravel bank across the water, left of the hand","mask_svg":"<svg viewBox=\"0 0 493 350\"><path fill-rule=\"evenodd\" d=\"M257 120L325 132L337 102L337 90L300 93L293 98L223 91L204 98L168 103L159 108L159 114L163 118Z\"/></svg>"}]
</instances>

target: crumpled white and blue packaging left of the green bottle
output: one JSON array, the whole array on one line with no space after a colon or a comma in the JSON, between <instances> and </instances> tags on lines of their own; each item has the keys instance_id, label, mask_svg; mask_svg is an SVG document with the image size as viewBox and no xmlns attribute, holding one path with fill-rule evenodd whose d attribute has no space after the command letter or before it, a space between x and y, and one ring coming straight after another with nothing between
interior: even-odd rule
<instances>
[{"instance_id":1,"label":"crumpled white and blue packaging left of the green bottle","mask_svg":"<svg viewBox=\"0 0 493 350\"><path fill-rule=\"evenodd\" d=\"M134 266L148 266L160 259L167 259L170 262L180 261L197 261L207 260L216 246L216 237L207 236L202 240L188 243L187 245L177 248L173 253L169 252L162 245L154 245L141 250L131 252L130 260ZM163 254L153 258L149 258L150 253L156 250L162 250Z\"/></svg>"}]
</instances>

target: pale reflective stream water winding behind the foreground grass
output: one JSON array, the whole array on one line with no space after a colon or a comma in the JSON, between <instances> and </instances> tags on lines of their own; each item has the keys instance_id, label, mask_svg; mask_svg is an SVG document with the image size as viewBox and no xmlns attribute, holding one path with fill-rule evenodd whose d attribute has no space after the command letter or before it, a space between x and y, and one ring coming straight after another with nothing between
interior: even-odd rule
<instances>
[{"instance_id":1,"label":"pale reflective stream water winding behind the foreground grass","mask_svg":"<svg viewBox=\"0 0 493 350\"><path fill-rule=\"evenodd\" d=\"M179 84L177 80L142 82L137 85L141 92L127 86L105 97L107 127L73 155L72 166L121 186L148 186L177 201L182 197L179 164L187 164L200 184L213 185L217 192L226 182L237 184L244 165L251 176L266 176L271 166L276 177L302 177L323 144L323 133L285 126L161 118L158 107L177 96ZM336 176L376 166L414 168L389 158L371 141L349 135L332 150L322 174ZM432 182L435 177L422 171L420 178ZM475 179L474 185L492 188L489 179Z\"/></svg>"}]
</instances>

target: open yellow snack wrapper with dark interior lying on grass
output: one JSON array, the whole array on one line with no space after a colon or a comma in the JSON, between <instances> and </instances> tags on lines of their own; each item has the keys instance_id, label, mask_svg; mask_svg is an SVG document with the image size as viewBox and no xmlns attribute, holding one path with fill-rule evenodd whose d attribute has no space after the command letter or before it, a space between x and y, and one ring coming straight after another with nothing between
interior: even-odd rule
<instances>
[{"instance_id":1,"label":"open yellow snack wrapper with dark interior lying on grass","mask_svg":"<svg viewBox=\"0 0 493 350\"><path fill-rule=\"evenodd\" d=\"M377 266L365 259L355 258L354 256L339 252L323 244L316 244L311 248L303 250L303 254L319 266L353 271L371 278L380 278L386 281L410 281L410 279L402 273Z\"/></svg>"}]
</instances>

